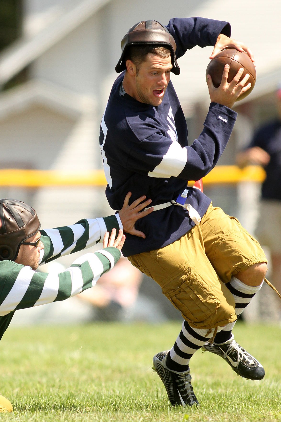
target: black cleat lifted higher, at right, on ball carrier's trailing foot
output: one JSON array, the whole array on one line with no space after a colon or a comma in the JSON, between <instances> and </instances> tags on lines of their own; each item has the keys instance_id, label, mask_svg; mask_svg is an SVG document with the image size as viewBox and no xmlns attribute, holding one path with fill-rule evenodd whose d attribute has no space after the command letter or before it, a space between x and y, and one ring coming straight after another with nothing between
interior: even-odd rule
<instances>
[{"instance_id":1,"label":"black cleat lifted higher, at right, on ball carrier's trailing foot","mask_svg":"<svg viewBox=\"0 0 281 422\"><path fill-rule=\"evenodd\" d=\"M221 356L233 371L244 378L260 380L265 376L265 370L260 362L236 343L233 335L230 340L222 344L207 341L201 349L203 352L208 351Z\"/></svg>"}]
</instances>

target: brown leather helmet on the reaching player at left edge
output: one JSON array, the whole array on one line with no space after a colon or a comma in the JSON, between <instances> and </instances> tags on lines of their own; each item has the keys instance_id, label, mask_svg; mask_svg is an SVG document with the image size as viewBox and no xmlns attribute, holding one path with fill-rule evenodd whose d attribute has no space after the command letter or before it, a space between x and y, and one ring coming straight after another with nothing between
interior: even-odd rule
<instances>
[{"instance_id":1,"label":"brown leather helmet on the reaching player at left edge","mask_svg":"<svg viewBox=\"0 0 281 422\"><path fill-rule=\"evenodd\" d=\"M35 210L15 199L0 200L0 260L16 260L21 242L40 230Z\"/></svg>"}]
</instances>

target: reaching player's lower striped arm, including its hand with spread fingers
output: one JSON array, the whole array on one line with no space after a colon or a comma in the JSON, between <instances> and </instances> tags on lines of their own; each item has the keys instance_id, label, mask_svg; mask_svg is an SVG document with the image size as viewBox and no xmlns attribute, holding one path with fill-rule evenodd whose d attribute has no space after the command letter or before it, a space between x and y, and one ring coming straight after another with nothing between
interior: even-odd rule
<instances>
[{"instance_id":1,"label":"reaching player's lower striped arm, including its hand with spread fingers","mask_svg":"<svg viewBox=\"0 0 281 422\"><path fill-rule=\"evenodd\" d=\"M59 274L40 273L29 266L5 262L2 271L6 271L6 288L0 294L0 315L64 300L94 286L99 277L120 259L125 236L122 230L116 239L115 235L116 229L110 235L106 232L104 249L82 255Z\"/></svg>"}]
</instances>

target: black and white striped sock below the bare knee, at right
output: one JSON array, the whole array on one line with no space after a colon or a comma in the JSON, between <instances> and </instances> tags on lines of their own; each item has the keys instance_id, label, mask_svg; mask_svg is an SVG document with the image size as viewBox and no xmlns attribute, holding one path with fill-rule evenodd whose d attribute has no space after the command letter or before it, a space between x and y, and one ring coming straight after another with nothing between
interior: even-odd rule
<instances>
[{"instance_id":1,"label":"black and white striped sock below the bare knee, at right","mask_svg":"<svg viewBox=\"0 0 281 422\"><path fill-rule=\"evenodd\" d=\"M260 286L247 286L242 283L242 281L236 279L236 277L231 277L230 282L226 284L226 287L233 294L235 299L235 312L237 317L239 317L246 306L249 305L254 295L260 290L262 284L260 284ZM232 329L236 321L225 325L225 327L215 336L214 343L222 344L225 343L225 341L230 340Z\"/></svg>"}]
</instances>

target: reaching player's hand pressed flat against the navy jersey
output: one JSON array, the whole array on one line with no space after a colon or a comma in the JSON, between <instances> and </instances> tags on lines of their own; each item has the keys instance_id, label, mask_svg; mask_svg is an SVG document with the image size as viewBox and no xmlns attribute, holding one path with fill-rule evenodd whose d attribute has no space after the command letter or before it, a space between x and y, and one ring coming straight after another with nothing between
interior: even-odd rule
<instances>
[{"instance_id":1,"label":"reaching player's hand pressed flat against the navy jersey","mask_svg":"<svg viewBox=\"0 0 281 422\"><path fill-rule=\"evenodd\" d=\"M126 233L130 233L131 235L142 237L143 239L145 239L145 233L135 229L135 222L138 219L145 217L147 214L150 214L154 210L154 208L150 207L146 211L142 211L151 203L151 199L147 199L145 202L142 202L146 198L145 195L139 197L133 203L131 203L131 205L129 205L129 199L131 195L131 192L127 193L123 203L123 207L119 211L119 216L123 224L123 229Z\"/></svg>"}]
</instances>

